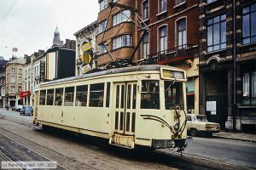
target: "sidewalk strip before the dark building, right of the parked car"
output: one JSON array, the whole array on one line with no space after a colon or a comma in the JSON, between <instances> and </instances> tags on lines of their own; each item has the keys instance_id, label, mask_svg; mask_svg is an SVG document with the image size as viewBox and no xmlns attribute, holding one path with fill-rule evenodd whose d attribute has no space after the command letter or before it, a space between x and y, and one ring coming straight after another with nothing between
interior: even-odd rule
<instances>
[{"instance_id":1,"label":"sidewalk strip before the dark building, right of the parked car","mask_svg":"<svg viewBox=\"0 0 256 170\"><path fill-rule=\"evenodd\" d=\"M230 132L219 132L213 133L214 137L225 138L225 139L238 139L244 141L250 141L256 143L256 134L250 133L230 133Z\"/></svg>"}]
</instances>

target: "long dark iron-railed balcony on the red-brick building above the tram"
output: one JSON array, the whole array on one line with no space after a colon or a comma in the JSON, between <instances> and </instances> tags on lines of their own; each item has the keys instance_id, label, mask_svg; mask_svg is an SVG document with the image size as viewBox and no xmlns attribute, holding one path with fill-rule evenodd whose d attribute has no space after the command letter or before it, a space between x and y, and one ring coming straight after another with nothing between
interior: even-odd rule
<instances>
[{"instance_id":1,"label":"long dark iron-railed balcony on the red-brick building above the tram","mask_svg":"<svg viewBox=\"0 0 256 170\"><path fill-rule=\"evenodd\" d=\"M183 59L194 58L195 56L198 56L198 49L198 45L185 44L155 54L149 54L145 61L147 64L164 65Z\"/></svg>"}]
</instances>

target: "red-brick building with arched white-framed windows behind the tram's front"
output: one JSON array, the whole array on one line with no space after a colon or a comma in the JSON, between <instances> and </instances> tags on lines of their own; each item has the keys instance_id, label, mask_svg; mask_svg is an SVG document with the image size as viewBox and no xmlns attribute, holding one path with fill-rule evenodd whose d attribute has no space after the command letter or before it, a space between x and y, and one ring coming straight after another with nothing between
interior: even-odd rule
<instances>
[{"instance_id":1,"label":"red-brick building with arched white-framed windows behind the tram's front","mask_svg":"<svg viewBox=\"0 0 256 170\"><path fill-rule=\"evenodd\" d=\"M137 60L172 65L186 71L189 112L199 113L199 6L194 0L138 0L138 13L150 31ZM140 37L143 30L138 31Z\"/></svg>"}]
</instances>

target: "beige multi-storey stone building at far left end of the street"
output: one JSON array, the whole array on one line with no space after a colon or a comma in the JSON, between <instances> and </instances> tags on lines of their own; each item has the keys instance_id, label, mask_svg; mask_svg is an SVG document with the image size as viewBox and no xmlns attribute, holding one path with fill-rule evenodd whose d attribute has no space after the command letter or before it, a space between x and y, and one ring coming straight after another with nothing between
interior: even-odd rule
<instances>
[{"instance_id":1,"label":"beige multi-storey stone building at far left end of the street","mask_svg":"<svg viewBox=\"0 0 256 170\"><path fill-rule=\"evenodd\" d=\"M24 77L24 58L11 58L10 61L4 65L5 69L5 97L9 107L23 105L19 93L22 91L22 81Z\"/></svg>"}]
</instances>

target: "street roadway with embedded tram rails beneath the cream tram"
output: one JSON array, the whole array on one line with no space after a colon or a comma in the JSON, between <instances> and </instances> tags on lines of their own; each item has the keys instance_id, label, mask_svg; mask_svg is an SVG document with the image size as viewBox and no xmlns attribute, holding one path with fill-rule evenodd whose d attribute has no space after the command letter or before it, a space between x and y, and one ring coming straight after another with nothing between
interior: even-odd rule
<instances>
[{"instance_id":1,"label":"street roadway with embedded tram rails beneath the cream tram","mask_svg":"<svg viewBox=\"0 0 256 170\"><path fill-rule=\"evenodd\" d=\"M1 110L0 116L1 150L14 161L32 161L44 158L57 161L58 169L234 169L256 167L253 162L255 143L246 141L216 137L211 139L194 138L194 143L183 152L183 156L180 156L174 150L151 152L126 150L110 146L108 141L101 139L77 136L58 130L45 132L41 129L34 129L32 116L20 116L16 111ZM27 147L26 150L31 151L23 151L20 156L20 150L24 150L22 145ZM220 153L220 150L223 151ZM36 154L31 156L32 152ZM2 161L4 160L4 156L0 156L0 158Z\"/></svg>"}]
</instances>

